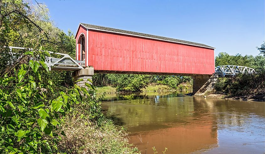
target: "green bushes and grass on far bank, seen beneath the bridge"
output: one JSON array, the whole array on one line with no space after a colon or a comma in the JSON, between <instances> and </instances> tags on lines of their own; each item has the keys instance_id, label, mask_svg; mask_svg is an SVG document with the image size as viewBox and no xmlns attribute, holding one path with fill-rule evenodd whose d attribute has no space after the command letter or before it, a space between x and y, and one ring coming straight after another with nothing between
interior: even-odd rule
<instances>
[{"instance_id":1,"label":"green bushes and grass on far bank, seen beneath the bridge","mask_svg":"<svg viewBox=\"0 0 265 154\"><path fill-rule=\"evenodd\" d=\"M193 80L187 76L101 74L93 76L97 93L191 90Z\"/></svg>"}]
</instances>

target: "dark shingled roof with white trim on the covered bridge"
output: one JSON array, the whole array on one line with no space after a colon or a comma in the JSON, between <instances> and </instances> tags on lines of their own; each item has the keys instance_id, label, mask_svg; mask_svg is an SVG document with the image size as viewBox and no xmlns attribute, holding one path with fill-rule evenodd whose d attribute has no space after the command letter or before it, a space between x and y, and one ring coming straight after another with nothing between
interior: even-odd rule
<instances>
[{"instance_id":1,"label":"dark shingled roof with white trim on the covered bridge","mask_svg":"<svg viewBox=\"0 0 265 154\"><path fill-rule=\"evenodd\" d=\"M127 34L127 35L133 35L133 36L139 36L139 37L147 37L147 38L152 38L152 39L157 39L157 40L176 42L176 43L181 43L181 44L189 44L189 45L193 45L193 46L200 46L200 47L206 47L206 48L215 49L214 47L211 47L211 46L208 46L208 45L205 45L205 44L196 43L196 42L189 42L189 41L179 40L179 39L175 39L175 38L162 37L162 36L145 34L145 33L140 33L140 32L126 31L126 30L121 30L121 29L116 29L116 28L91 25L91 24L87 24L87 23L80 23L80 24L82 26L86 27L87 29L114 32L114 33L122 33L122 34Z\"/></svg>"}]
</instances>

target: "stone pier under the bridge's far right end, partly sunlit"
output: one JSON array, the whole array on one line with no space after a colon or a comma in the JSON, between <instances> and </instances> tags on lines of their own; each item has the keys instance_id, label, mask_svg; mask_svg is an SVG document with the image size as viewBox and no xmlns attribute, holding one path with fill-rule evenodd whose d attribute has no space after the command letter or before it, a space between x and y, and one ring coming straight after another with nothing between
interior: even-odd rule
<instances>
[{"instance_id":1,"label":"stone pier under the bridge's far right end, partly sunlit","mask_svg":"<svg viewBox=\"0 0 265 154\"><path fill-rule=\"evenodd\" d=\"M215 82L217 81L218 75L195 75L193 79L193 95L204 96L205 92L214 90Z\"/></svg>"}]
</instances>

